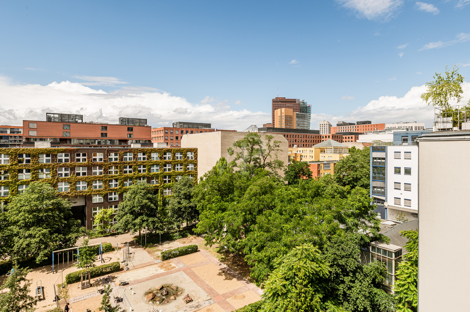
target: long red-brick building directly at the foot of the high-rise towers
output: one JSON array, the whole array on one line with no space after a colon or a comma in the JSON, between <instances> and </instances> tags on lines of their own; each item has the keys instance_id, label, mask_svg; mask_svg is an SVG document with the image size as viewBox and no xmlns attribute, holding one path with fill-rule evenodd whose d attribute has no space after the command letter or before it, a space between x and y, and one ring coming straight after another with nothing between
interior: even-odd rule
<instances>
[{"instance_id":1,"label":"long red-brick building directly at the foot of the high-rise towers","mask_svg":"<svg viewBox=\"0 0 470 312\"><path fill-rule=\"evenodd\" d=\"M339 143L343 143L343 136L340 134L321 135L320 130L305 129L287 129L287 128L258 128L258 132L270 132L282 134L289 142L289 147L312 147L315 144L332 139Z\"/></svg>"}]
</instances>

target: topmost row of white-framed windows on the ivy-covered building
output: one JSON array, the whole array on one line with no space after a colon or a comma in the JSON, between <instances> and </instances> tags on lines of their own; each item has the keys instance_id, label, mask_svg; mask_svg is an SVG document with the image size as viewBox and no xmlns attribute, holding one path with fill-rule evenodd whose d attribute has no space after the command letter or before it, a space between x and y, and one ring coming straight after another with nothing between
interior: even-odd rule
<instances>
[{"instance_id":1,"label":"topmost row of white-framed windows on the ivy-covered building","mask_svg":"<svg viewBox=\"0 0 470 312\"><path fill-rule=\"evenodd\" d=\"M52 154L53 155L53 154ZM39 163L51 163L51 154L39 154L38 155L38 162ZM187 152L186 157L188 160L194 160L194 152ZM119 153L108 153L108 161L119 161ZM132 160L139 160L144 161L147 160L147 153L137 153L133 155L133 153L124 153L122 161L132 161ZM171 152L165 152L163 154L163 160L182 160L183 153L177 152L175 153L174 158L172 158ZM75 162L86 162L87 156L86 153L75 153ZM92 153L92 162L102 162L104 161L103 153ZM149 160L160 160L159 153L151 153ZM24 164L31 163L31 154L18 154L18 162ZM57 162L58 163L65 163L71 162L71 154L70 153L58 153L57 154ZM10 163L10 155L9 154L0 154L0 164L9 164Z\"/></svg>"}]
</instances>

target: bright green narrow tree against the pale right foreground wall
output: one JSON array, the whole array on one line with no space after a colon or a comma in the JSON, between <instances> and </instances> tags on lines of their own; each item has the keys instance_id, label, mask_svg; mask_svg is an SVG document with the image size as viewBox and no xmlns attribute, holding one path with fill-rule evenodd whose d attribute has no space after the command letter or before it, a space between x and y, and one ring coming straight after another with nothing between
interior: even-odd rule
<instances>
[{"instance_id":1,"label":"bright green narrow tree against the pale right foreground wall","mask_svg":"<svg viewBox=\"0 0 470 312\"><path fill-rule=\"evenodd\" d=\"M418 231L401 231L408 239L405 244L407 253L403 255L395 276L393 287L397 312L415 312L418 308Z\"/></svg>"}]
</instances>

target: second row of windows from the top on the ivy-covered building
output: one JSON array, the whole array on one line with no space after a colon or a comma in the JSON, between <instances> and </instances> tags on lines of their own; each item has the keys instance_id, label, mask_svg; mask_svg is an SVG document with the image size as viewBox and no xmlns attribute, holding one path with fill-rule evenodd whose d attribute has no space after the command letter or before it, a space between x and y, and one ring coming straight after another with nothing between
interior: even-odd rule
<instances>
[{"instance_id":1,"label":"second row of windows from the top on the ivy-covered building","mask_svg":"<svg viewBox=\"0 0 470 312\"><path fill-rule=\"evenodd\" d=\"M183 171L183 164L174 164L174 171ZM76 176L86 176L88 167L74 167ZM103 167L96 166L91 167L92 175L103 175ZM172 171L172 164L164 164L162 166L163 172ZM52 169L53 170L53 169ZM194 164L188 164L186 170L194 170ZM50 168L39 168L39 179L46 179L51 177ZM157 173L160 172L160 165L150 165L149 169L147 166L139 165L134 171L132 165L124 165L122 173L123 174L132 174L132 173ZM57 177L65 178L73 175L73 167L58 167L57 168ZM108 168L108 175L118 175L119 168L118 166L110 166ZM0 180L8 180L9 172L4 170L3 174L0 175ZM18 180L31 179L31 169L18 169Z\"/></svg>"}]
</instances>

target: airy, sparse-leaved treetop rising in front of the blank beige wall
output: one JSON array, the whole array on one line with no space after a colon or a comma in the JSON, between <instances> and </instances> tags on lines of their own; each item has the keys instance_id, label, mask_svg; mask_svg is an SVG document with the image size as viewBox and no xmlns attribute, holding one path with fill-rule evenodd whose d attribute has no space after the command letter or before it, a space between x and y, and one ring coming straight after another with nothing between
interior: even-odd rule
<instances>
[{"instance_id":1,"label":"airy, sparse-leaved treetop rising in front of the blank beige wall","mask_svg":"<svg viewBox=\"0 0 470 312\"><path fill-rule=\"evenodd\" d=\"M269 134L265 139L266 142L263 142L257 132L249 132L242 139L235 141L233 147L227 149L230 156L235 154L232 166L240 167L240 170L250 177L255 175L257 170L269 170L276 175L277 170L284 166L276 154L281 151L281 141L273 141L274 137ZM236 164L238 160L241 160L239 165Z\"/></svg>"}]
</instances>

